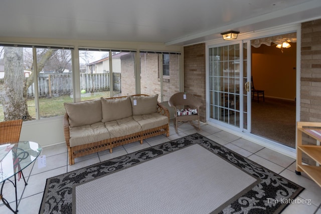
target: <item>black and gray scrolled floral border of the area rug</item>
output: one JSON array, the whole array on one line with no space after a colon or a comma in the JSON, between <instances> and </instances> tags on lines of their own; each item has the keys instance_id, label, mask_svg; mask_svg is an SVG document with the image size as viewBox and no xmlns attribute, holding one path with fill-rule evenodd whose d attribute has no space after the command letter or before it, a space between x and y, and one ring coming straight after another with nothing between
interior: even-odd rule
<instances>
[{"instance_id":1,"label":"black and gray scrolled floral border of the area rug","mask_svg":"<svg viewBox=\"0 0 321 214\"><path fill-rule=\"evenodd\" d=\"M39 213L72 213L73 186L115 172L157 156L199 144L259 180L259 183L232 198L218 213L279 213L303 188L282 176L200 135L192 134L121 157L97 163L47 179ZM160 210L160 212L162 212Z\"/></svg>"}]
</instances>

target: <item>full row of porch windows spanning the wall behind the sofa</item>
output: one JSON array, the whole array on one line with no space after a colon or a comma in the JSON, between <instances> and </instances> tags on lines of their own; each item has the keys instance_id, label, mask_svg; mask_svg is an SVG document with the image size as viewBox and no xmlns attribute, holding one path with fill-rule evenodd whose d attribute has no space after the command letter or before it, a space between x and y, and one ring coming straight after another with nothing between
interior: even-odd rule
<instances>
[{"instance_id":1,"label":"full row of porch windows spanning the wall behind the sofa","mask_svg":"<svg viewBox=\"0 0 321 214\"><path fill-rule=\"evenodd\" d=\"M163 102L180 91L180 53L140 52L140 71L134 50L80 47L78 54L73 59L71 47L0 45L0 121L62 116L64 103L79 97L158 94Z\"/></svg>"}]
</instances>

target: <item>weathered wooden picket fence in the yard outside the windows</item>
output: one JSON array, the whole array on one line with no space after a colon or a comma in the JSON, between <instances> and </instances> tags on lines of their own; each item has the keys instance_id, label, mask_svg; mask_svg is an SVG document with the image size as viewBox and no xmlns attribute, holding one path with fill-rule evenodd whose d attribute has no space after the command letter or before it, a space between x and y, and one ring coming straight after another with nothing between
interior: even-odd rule
<instances>
[{"instance_id":1,"label":"weathered wooden picket fence in the yard outside the windows","mask_svg":"<svg viewBox=\"0 0 321 214\"><path fill-rule=\"evenodd\" d=\"M39 97L51 97L70 95L73 91L72 74L39 74L38 75L38 93ZM120 73L113 74L114 90L121 88ZM80 88L89 92L109 91L109 73L103 74L80 74ZM35 94L35 85L28 88L28 97Z\"/></svg>"}]
</instances>

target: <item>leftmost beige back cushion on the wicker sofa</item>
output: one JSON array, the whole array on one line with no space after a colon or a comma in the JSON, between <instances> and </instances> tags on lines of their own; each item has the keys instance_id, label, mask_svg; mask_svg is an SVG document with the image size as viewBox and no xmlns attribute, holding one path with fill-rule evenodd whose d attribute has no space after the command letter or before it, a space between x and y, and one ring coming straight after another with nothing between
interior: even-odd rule
<instances>
[{"instance_id":1,"label":"leftmost beige back cushion on the wicker sofa","mask_svg":"<svg viewBox=\"0 0 321 214\"><path fill-rule=\"evenodd\" d=\"M90 100L78 103L64 103L71 127L101 122L101 101Z\"/></svg>"}]
</instances>

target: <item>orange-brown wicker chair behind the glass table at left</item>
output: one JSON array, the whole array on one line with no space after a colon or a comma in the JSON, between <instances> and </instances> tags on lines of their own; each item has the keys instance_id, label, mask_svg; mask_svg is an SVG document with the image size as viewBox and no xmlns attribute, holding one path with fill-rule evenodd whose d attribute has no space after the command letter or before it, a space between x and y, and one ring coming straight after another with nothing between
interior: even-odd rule
<instances>
[{"instance_id":1,"label":"orange-brown wicker chair behind the glass table at left","mask_svg":"<svg viewBox=\"0 0 321 214\"><path fill-rule=\"evenodd\" d=\"M0 122L0 145L19 142L23 119ZM21 174L24 178L25 184L27 185L22 171Z\"/></svg>"}]
</instances>

